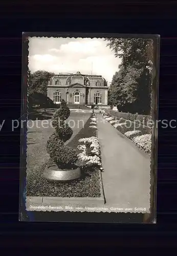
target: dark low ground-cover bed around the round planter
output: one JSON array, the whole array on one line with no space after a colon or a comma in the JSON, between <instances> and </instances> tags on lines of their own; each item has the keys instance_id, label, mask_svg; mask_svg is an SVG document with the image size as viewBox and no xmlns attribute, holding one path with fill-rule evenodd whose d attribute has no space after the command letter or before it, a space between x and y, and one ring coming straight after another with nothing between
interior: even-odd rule
<instances>
[{"instance_id":1,"label":"dark low ground-cover bed around the round planter","mask_svg":"<svg viewBox=\"0 0 177 256\"><path fill-rule=\"evenodd\" d=\"M79 133L68 143L80 153L77 146L80 138L96 136L96 131L90 129L90 118L86 121L84 127ZM49 182L43 177L43 171L49 164L51 159L40 164L37 169L31 169L27 173L27 196L48 196L48 197L100 197L100 175L99 170L94 167L92 169L81 168L81 179L70 183ZM79 165L79 162L77 163Z\"/></svg>"}]
</instances>

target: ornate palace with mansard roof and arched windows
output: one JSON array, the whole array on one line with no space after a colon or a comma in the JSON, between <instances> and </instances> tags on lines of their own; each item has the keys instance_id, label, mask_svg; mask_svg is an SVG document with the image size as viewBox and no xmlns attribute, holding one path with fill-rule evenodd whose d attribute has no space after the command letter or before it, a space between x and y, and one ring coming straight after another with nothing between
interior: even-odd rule
<instances>
[{"instance_id":1,"label":"ornate palace with mansard roof and arched windows","mask_svg":"<svg viewBox=\"0 0 177 256\"><path fill-rule=\"evenodd\" d=\"M77 72L51 77L47 95L56 104L64 99L67 104L106 106L107 92L107 82L102 76Z\"/></svg>"}]
</instances>

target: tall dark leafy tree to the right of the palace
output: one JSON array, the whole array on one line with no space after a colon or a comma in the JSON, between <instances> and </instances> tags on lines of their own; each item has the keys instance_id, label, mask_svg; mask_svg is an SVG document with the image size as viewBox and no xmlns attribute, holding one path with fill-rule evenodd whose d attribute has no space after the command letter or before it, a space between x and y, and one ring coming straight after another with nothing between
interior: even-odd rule
<instances>
[{"instance_id":1,"label":"tall dark leafy tree to the right of the palace","mask_svg":"<svg viewBox=\"0 0 177 256\"><path fill-rule=\"evenodd\" d=\"M110 99L118 108L129 112L149 114L152 76L152 40L144 38L106 38L109 46L120 57L119 72L113 76Z\"/></svg>"}]
</instances>

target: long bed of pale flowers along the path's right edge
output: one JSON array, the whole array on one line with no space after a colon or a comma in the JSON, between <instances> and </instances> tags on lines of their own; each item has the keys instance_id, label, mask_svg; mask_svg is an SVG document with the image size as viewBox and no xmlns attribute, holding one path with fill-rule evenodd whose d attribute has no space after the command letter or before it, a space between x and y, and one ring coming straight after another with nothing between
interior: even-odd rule
<instances>
[{"instance_id":1,"label":"long bed of pale flowers along the path's right edge","mask_svg":"<svg viewBox=\"0 0 177 256\"><path fill-rule=\"evenodd\" d=\"M139 127L138 123L132 122L131 120L125 120L122 117L106 116L104 119L112 124L119 132L132 140L132 142L147 154L151 154L151 129L149 129L149 127Z\"/></svg>"}]
</instances>

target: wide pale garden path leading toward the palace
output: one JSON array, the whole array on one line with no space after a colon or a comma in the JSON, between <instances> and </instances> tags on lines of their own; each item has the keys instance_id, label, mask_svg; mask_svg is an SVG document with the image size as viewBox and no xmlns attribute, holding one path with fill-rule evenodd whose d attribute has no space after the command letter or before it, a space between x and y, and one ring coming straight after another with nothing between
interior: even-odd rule
<instances>
[{"instance_id":1,"label":"wide pale garden path leading toward the palace","mask_svg":"<svg viewBox=\"0 0 177 256\"><path fill-rule=\"evenodd\" d=\"M97 114L105 207L149 209L150 157Z\"/></svg>"}]
</instances>

